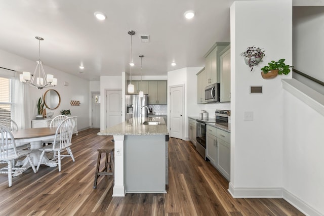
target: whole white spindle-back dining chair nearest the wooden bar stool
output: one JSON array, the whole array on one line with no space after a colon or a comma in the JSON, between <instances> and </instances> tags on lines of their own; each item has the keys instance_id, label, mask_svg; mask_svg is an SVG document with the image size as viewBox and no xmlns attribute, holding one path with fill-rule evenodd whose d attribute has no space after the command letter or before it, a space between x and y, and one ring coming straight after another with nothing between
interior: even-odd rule
<instances>
[{"instance_id":1,"label":"whole white spindle-back dining chair nearest the wooden bar stool","mask_svg":"<svg viewBox=\"0 0 324 216\"><path fill-rule=\"evenodd\" d=\"M65 119L59 127L56 129L55 138L52 144L48 146L44 146L40 151L42 151L41 157L39 158L38 165L36 170L39 169L41 164L58 164L59 171L61 171L61 159L64 157L71 157L74 162L74 157L71 151L70 146L73 129L74 129L74 119L67 118ZM61 152L65 152L67 154L61 154ZM54 156L48 162L42 162L45 152L54 152Z\"/></svg>"}]
</instances>

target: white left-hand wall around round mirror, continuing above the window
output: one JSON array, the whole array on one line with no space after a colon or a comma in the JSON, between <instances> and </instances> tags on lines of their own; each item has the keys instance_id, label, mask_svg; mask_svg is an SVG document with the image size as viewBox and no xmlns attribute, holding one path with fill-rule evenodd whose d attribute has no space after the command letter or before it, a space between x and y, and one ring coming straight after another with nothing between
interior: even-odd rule
<instances>
[{"instance_id":1,"label":"white left-hand wall around round mirror, continuing above the window","mask_svg":"<svg viewBox=\"0 0 324 216\"><path fill-rule=\"evenodd\" d=\"M3 50L0 50L0 59L0 65L2 67L16 71L29 71L33 73L36 68L35 61L22 58ZM37 90L36 88L29 87L29 107L31 110L31 119L35 119L37 113L36 103L38 98L42 97L47 90L55 89L61 96L61 104L55 110L47 109L47 112L53 111L54 115L60 115L60 111L62 109L70 109L72 116L77 116L78 130L89 128L89 81L68 73L64 73L46 65L43 66L46 74L53 74L54 77L57 78L57 86L55 88L45 88L43 90ZM64 81L68 82L69 85L64 86ZM80 101L80 106L71 106L71 100ZM31 127L31 123L27 126Z\"/></svg>"}]
</instances>

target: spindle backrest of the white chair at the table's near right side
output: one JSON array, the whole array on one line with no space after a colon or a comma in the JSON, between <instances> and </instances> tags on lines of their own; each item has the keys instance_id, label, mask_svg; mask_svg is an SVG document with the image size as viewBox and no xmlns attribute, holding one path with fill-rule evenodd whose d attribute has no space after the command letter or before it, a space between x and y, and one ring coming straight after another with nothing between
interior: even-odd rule
<instances>
[{"instance_id":1,"label":"spindle backrest of the white chair at the table's near right side","mask_svg":"<svg viewBox=\"0 0 324 216\"><path fill-rule=\"evenodd\" d=\"M74 126L75 126L75 121L73 118L67 118L64 121L62 121L62 123L56 129L53 149L55 148L63 149L71 145Z\"/></svg>"}]
</instances>

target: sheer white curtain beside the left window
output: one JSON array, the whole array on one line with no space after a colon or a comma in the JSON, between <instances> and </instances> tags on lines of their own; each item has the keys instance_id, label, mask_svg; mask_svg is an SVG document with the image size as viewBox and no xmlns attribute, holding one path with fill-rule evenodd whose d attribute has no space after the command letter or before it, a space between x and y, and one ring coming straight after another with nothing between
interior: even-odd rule
<instances>
[{"instance_id":1,"label":"sheer white curtain beside the left window","mask_svg":"<svg viewBox=\"0 0 324 216\"><path fill-rule=\"evenodd\" d=\"M15 73L13 81L14 92L14 121L20 129L31 127L30 107L28 103L29 87L19 80L19 73Z\"/></svg>"}]
</instances>

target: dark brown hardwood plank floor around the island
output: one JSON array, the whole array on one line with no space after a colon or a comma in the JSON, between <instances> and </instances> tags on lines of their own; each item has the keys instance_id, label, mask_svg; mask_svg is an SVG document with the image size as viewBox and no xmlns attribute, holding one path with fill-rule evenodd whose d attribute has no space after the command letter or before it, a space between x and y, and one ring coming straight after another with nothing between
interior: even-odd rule
<instances>
[{"instance_id":1,"label":"dark brown hardwood plank floor around the island","mask_svg":"<svg viewBox=\"0 0 324 216\"><path fill-rule=\"evenodd\" d=\"M0 215L303 215L284 199L233 199L228 182L191 142L174 138L167 194L112 197L111 176L99 177L93 189L97 149L112 139L98 131L73 135L75 162L64 158L61 172L45 165L36 174L28 169L11 188L8 176L0 175Z\"/></svg>"}]
</instances>

